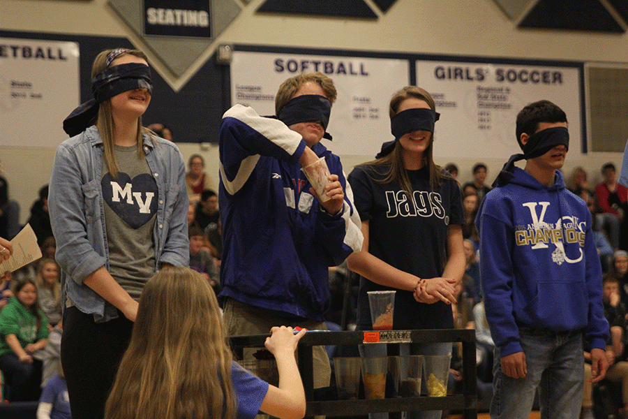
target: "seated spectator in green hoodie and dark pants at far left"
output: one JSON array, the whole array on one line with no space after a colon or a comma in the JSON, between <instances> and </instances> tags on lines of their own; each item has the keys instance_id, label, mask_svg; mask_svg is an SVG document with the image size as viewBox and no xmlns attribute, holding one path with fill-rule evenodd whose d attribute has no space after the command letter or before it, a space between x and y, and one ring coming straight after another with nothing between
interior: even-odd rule
<instances>
[{"instance_id":1,"label":"seated spectator in green hoodie and dark pants at far left","mask_svg":"<svg viewBox=\"0 0 628 419\"><path fill-rule=\"evenodd\" d=\"M10 386L10 402L37 400L41 362L33 353L46 346L48 319L38 307L33 281L17 283L13 293L0 311L0 369Z\"/></svg>"}]
</instances>

